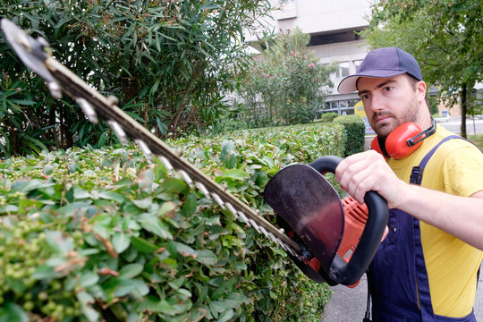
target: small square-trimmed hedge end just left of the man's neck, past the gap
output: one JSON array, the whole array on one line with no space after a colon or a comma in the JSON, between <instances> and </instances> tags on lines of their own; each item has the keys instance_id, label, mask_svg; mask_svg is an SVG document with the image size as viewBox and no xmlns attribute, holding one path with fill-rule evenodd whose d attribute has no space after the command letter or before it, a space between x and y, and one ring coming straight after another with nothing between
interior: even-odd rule
<instances>
[{"instance_id":1,"label":"small square-trimmed hedge end just left of the man's neck, past the gap","mask_svg":"<svg viewBox=\"0 0 483 322\"><path fill-rule=\"evenodd\" d=\"M338 116L334 119L334 122L343 124L345 129L347 139L345 142L344 157L364 151L366 127L359 115Z\"/></svg>"}]
</instances>

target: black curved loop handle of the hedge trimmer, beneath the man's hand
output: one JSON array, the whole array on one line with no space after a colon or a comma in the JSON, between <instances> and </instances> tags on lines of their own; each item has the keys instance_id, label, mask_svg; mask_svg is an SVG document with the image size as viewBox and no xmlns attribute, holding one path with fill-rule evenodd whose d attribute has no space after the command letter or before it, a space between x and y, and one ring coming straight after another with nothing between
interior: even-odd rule
<instances>
[{"instance_id":1,"label":"black curved loop handle of the hedge trimmer, beneath the man's hand","mask_svg":"<svg viewBox=\"0 0 483 322\"><path fill-rule=\"evenodd\" d=\"M335 156L319 157L309 165L320 174L327 172L335 174L335 168L342 160L342 157ZM364 275L372 258L376 255L386 229L389 216L386 199L383 199L376 191L368 191L364 196L364 201L368 206L369 216L356 250L348 263L339 255L335 255L330 272L327 272L330 278L343 285L355 284Z\"/></svg>"}]
</instances>

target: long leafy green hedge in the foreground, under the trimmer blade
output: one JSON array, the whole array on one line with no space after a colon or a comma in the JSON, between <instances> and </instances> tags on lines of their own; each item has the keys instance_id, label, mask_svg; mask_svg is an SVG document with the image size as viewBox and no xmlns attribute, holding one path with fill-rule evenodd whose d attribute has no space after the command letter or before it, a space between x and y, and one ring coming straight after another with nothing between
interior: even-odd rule
<instances>
[{"instance_id":1,"label":"long leafy green hedge in the foreground, under the trimmer blade","mask_svg":"<svg viewBox=\"0 0 483 322\"><path fill-rule=\"evenodd\" d=\"M290 163L342 155L338 124L170 142L274 221L262 192ZM318 321L326 285L137 148L0 164L0 319Z\"/></svg>"}]
</instances>

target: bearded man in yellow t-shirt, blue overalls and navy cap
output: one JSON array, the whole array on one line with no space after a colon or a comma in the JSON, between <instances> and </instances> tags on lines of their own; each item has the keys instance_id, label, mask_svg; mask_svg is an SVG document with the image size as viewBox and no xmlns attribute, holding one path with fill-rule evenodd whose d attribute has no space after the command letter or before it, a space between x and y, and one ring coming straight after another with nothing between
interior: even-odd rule
<instances>
[{"instance_id":1,"label":"bearded man in yellow t-shirt, blue overalls and navy cap","mask_svg":"<svg viewBox=\"0 0 483 322\"><path fill-rule=\"evenodd\" d=\"M368 272L374 321L476 321L483 155L466 140L445 139L453 133L439 125L432 131L426 89L417 61L397 47L371 51L338 88L359 92L386 154L359 153L335 171L360 203L367 191L377 191L391 209ZM388 156L387 137L407 122L427 130L422 144L408 156Z\"/></svg>"}]
</instances>

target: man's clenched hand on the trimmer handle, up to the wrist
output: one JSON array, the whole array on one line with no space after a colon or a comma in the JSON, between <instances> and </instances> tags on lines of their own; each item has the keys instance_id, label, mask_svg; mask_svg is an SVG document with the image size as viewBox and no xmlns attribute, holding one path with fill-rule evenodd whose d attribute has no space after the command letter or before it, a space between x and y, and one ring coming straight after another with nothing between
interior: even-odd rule
<instances>
[{"instance_id":1,"label":"man's clenched hand on the trimmer handle, up to the wrist","mask_svg":"<svg viewBox=\"0 0 483 322\"><path fill-rule=\"evenodd\" d=\"M359 203L368 191L377 191L389 208L398 208L407 183L402 182L387 165L386 160L373 150L346 157L335 169L335 178Z\"/></svg>"}]
</instances>

